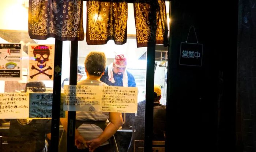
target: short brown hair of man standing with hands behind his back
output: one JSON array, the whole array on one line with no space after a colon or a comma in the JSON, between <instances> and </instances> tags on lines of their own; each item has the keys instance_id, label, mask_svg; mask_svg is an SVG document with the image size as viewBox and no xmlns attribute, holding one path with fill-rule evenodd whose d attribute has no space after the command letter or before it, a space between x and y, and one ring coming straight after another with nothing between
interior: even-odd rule
<instances>
[{"instance_id":1,"label":"short brown hair of man standing with hands behind his back","mask_svg":"<svg viewBox=\"0 0 256 152\"><path fill-rule=\"evenodd\" d=\"M89 75L101 76L106 67L106 56L103 52L90 52L84 61Z\"/></svg>"}]
</instances>

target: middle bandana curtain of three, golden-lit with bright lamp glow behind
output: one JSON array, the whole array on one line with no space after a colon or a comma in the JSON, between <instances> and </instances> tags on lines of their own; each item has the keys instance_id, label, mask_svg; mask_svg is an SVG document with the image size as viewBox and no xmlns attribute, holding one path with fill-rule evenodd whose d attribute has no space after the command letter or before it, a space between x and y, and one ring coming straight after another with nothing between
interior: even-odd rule
<instances>
[{"instance_id":1,"label":"middle bandana curtain of three, golden-lit with bright lamp glow behind","mask_svg":"<svg viewBox=\"0 0 256 152\"><path fill-rule=\"evenodd\" d=\"M127 2L87 1L86 42L88 45L124 44L127 39Z\"/></svg>"}]
</instances>

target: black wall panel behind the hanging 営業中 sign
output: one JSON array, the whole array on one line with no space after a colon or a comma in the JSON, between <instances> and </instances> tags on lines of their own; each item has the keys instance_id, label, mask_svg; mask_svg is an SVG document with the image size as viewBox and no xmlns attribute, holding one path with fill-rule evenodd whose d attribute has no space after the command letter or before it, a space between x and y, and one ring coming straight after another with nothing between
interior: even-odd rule
<instances>
[{"instance_id":1,"label":"black wall panel behind the hanging \u55b6\u696d\u4e2d sign","mask_svg":"<svg viewBox=\"0 0 256 152\"><path fill-rule=\"evenodd\" d=\"M238 0L173 0L167 82L166 152L235 150ZM180 43L194 25L202 67L179 65ZM188 42L196 43L194 32Z\"/></svg>"}]
</instances>

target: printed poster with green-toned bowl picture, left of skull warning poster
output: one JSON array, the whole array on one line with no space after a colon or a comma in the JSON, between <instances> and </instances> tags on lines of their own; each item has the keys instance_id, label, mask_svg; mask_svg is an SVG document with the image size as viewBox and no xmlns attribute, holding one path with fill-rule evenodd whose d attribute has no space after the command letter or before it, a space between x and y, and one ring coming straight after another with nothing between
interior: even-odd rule
<instances>
[{"instance_id":1,"label":"printed poster with green-toned bowl picture, left of skull warning poster","mask_svg":"<svg viewBox=\"0 0 256 152\"><path fill-rule=\"evenodd\" d=\"M0 80L15 81L22 79L21 44L0 44Z\"/></svg>"}]
</instances>

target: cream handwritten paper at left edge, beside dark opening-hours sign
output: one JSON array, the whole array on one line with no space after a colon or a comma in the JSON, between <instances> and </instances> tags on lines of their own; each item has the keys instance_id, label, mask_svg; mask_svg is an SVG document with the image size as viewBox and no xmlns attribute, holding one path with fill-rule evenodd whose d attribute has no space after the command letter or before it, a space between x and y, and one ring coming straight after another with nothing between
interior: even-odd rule
<instances>
[{"instance_id":1,"label":"cream handwritten paper at left edge, beside dark opening-hours sign","mask_svg":"<svg viewBox=\"0 0 256 152\"><path fill-rule=\"evenodd\" d=\"M1 119L27 119L29 93L0 93Z\"/></svg>"}]
</instances>

